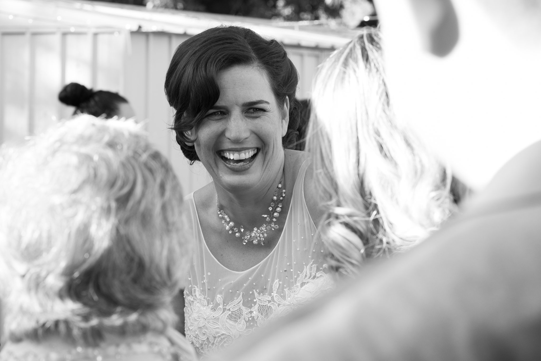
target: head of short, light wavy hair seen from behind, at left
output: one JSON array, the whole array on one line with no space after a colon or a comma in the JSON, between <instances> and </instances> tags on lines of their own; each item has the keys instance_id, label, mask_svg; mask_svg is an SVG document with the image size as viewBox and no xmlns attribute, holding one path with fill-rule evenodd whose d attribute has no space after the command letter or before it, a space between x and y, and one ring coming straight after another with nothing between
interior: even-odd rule
<instances>
[{"instance_id":1,"label":"head of short, light wavy hair seen from behind, at left","mask_svg":"<svg viewBox=\"0 0 541 361\"><path fill-rule=\"evenodd\" d=\"M95 344L174 325L191 242L179 181L139 126L82 115L0 161L5 338Z\"/></svg>"}]
</instances>

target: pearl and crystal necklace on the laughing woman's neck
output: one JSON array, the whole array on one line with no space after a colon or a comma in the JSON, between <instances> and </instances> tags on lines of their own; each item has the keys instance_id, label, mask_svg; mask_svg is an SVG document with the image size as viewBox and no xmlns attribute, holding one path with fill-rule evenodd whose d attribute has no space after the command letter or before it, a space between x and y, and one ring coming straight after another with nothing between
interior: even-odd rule
<instances>
[{"instance_id":1,"label":"pearl and crystal necklace on the laughing woman's neck","mask_svg":"<svg viewBox=\"0 0 541 361\"><path fill-rule=\"evenodd\" d=\"M278 218L280 216L280 212L282 212L281 201L286 196L285 189L280 191L280 188L282 188L282 180L283 178L280 180L280 183L278 183L278 187L276 187L272 197L271 206L268 208L269 211L271 211L271 215L262 214L261 216L265 218L265 223L263 223L259 229L254 227L254 230L251 232L248 230L245 231L243 226L240 226L240 229L235 227L235 222L232 222L226 212L223 212L222 209L220 209L220 206L218 206L218 195L216 194L216 207L218 207L218 216L222 219L223 226L226 227L226 231L229 231L229 233L235 232L236 238L240 238L242 235L243 245L246 245L248 241L252 241L254 245L261 243L261 246L265 246L267 232L274 231L275 229L279 228L279 226L275 225L274 222L276 222L276 218ZM271 219L272 223L269 224Z\"/></svg>"}]
</instances>

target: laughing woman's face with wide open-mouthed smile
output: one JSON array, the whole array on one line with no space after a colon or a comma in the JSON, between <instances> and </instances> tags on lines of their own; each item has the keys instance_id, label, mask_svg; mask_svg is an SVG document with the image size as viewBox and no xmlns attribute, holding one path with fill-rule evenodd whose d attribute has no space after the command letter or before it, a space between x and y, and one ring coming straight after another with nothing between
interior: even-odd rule
<instances>
[{"instance_id":1,"label":"laughing woman's face with wide open-mouthed smile","mask_svg":"<svg viewBox=\"0 0 541 361\"><path fill-rule=\"evenodd\" d=\"M197 130L195 151L220 187L264 191L283 164L289 102L280 106L263 70L236 65L217 76L220 98Z\"/></svg>"}]
</instances>

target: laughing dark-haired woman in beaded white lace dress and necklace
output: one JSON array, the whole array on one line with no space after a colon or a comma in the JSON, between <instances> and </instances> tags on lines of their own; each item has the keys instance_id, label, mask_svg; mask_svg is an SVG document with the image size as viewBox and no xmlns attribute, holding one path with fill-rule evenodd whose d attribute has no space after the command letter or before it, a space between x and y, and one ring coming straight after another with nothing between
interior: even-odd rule
<instances>
[{"instance_id":1,"label":"laughing dark-haired woman in beaded white lace dress and necklace","mask_svg":"<svg viewBox=\"0 0 541 361\"><path fill-rule=\"evenodd\" d=\"M220 27L176 49L166 76L182 152L213 182L188 195L196 240L186 337L202 354L328 289L307 153L296 141L298 74L285 49Z\"/></svg>"}]
</instances>

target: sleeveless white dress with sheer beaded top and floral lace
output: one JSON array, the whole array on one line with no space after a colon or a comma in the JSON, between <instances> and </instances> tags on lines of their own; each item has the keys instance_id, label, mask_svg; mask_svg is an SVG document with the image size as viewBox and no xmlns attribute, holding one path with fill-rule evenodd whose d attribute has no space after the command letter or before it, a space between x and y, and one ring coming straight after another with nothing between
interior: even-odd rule
<instances>
[{"instance_id":1,"label":"sleeveless white dress with sheer beaded top and floral lace","mask_svg":"<svg viewBox=\"0 0 541 361\"><path fill-rule=\"evenodd\" d=\"M274 250L249 270L222 266L203 239L193 193L188 195L195 251L184 290L186 338L202 355L265 326L332 287L321 242L304 197L308 162L300 168L286 224Z\"/></svg>"}]
</instances>

